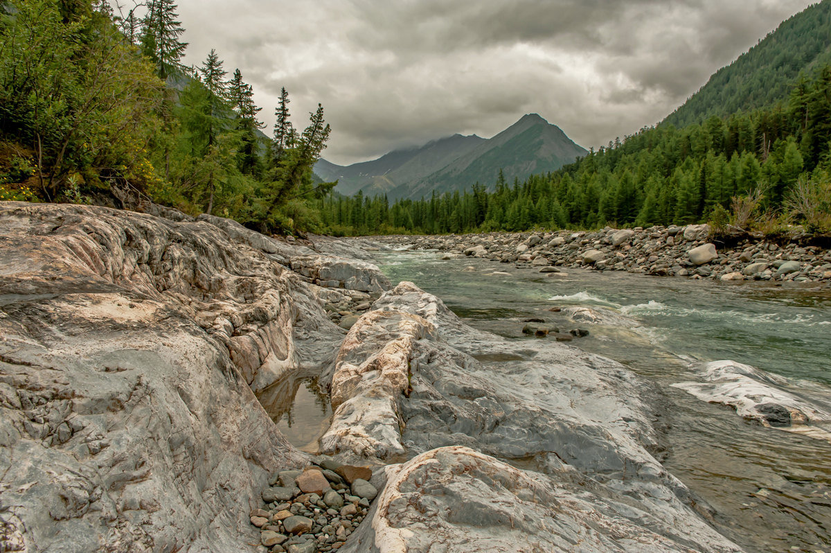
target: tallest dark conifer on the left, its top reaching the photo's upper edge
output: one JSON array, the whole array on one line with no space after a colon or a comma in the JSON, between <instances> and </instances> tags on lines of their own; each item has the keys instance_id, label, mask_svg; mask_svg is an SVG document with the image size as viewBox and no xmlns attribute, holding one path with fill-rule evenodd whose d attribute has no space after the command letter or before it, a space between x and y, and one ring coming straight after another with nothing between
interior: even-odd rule
<instances>
[{"instance_id":1,"label":"tallest dark conifer on the left, its top reaching the photo's upper edge","mask_svg":"<svg viewBox=\"0 0 831 553\"><path fill-rule=\"evenodd\" d=\"M179 40L184 28L176 17L173 0L151 0L141 32L141 51L155 64L156 74L163 80L182 72L180 60L188 46Z\"/></svg>"}]
</instances>

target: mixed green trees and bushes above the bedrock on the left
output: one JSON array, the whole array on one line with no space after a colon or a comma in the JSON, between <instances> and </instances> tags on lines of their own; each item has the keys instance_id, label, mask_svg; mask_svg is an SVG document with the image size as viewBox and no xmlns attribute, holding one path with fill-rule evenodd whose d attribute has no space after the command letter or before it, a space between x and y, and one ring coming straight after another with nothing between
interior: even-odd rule
<instances>
[{"instance_id":1,"label":"mixed green trees and bushes above the bedrock on the left","mask_svg":"<svg viewBox=\"0 0 831 553\"><path fill-rule=\"evenodd\" d=\"M263 231L318 228L309 199L334 185L312 173L322 106L297 129L283 89L268 138L242 72L214 50L184 66L183 33L172 0L0 2L0 196L138 195Z\"/></svg>"}]
</instances>

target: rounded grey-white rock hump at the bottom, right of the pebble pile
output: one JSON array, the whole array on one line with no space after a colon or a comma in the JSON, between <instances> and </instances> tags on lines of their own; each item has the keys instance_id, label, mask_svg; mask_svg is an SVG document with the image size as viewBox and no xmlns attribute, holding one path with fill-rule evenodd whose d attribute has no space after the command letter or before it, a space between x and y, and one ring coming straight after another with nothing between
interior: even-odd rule
<instances>
[{"instance_id":1,"label":"rounded grey-white rock hump at the bottom, right of the pebble pile","mask_svg":"<svg viewBox=\"0 0 831 553\"><path fill-rule=\"evenodd\" d=\"M441 447L386 471L371 524L341 551L434 551L437 543L448 552L741 551L691 510L661 519L626 494L595 495L596 485L568 467L545 476Z\"/></svg>"}]
</instances>

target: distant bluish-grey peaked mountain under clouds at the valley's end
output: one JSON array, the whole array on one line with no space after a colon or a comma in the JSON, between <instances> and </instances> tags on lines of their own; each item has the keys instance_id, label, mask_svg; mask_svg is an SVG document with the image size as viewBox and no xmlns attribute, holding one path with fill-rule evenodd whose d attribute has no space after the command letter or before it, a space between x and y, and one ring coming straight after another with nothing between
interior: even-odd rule
<instances>
[{"instance_id":1,"label":"distant bluish-grey peaked mountain under clouds at the valley's end","mask_svg":"<svg viewBox=\"0 0 831 553\"><path fill-rule=\"evenodd\" d=\"M395 200L420 198L433 190L465 190L476 182L492 187L500 169L508 180L524 179L557 170L586 153L558 126L534 113L490 139L457 134L354 165L320 160L315 172L323 180L338 179L335 190L341 194L361 190Z\"/></svg>"}]
</instances>

